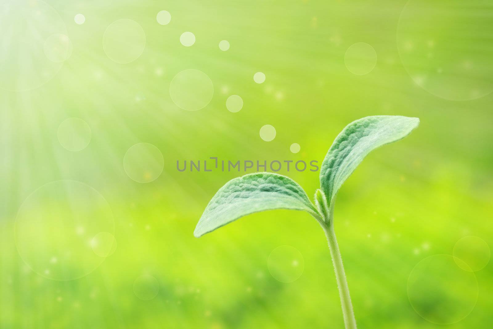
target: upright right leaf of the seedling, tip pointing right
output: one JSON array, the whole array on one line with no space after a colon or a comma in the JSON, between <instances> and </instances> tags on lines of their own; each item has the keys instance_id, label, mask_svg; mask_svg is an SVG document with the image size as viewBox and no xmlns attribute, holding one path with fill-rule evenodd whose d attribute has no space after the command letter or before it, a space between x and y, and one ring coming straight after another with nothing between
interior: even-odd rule
<instances>
[{"instance_id":1,"label":"upright right leaf of the seedling, tip pointing right","mask_svg":"<svg viewBox=\"0 0 493 329\"><path fill-rule=\"evenodd\" d=\"M370 151L406 137L419 124L418 118L377 115L347 125L330 146L320 167L320 186L329 206L341 185Z\"/></svg>"}]
</instances>

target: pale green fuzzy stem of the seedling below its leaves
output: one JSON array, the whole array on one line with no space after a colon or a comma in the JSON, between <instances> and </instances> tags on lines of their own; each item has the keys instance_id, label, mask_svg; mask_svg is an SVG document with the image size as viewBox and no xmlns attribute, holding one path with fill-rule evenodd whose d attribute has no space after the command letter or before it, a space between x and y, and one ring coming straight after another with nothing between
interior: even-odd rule
<instances>
[{"instance_id":1,"label":"pale green fuzzy stem of the seedling below its leaves","mask_svg":"<svg viewBox=\"0 0 493 329\"><path fill-rule=\"evenodd\" d=\"M346 329L356 329L356 319L354 319L354 313L352 311L348 281L346 280L346 273L344 272L341 253L339 252L339 246L337 245L337 239L334 233L332 211L330 212L330 219L322 224L322 228L325 232L325 236L327 237L327 241L329 242L330 255L332 256L332 263L334 264L334 270L336 273L339 296L341 297L344 324L346 325Z\"/></svg>"}]
</instances>

